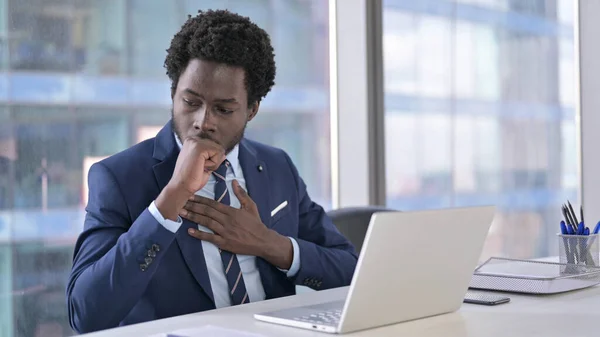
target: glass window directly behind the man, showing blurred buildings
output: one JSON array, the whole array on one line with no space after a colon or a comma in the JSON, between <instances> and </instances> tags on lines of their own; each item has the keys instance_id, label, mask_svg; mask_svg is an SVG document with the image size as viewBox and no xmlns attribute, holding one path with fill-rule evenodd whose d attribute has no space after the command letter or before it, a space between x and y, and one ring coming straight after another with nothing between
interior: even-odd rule
<instances>
[{"instance_id":1,"label":"glass window directly behind the man, showing blurred buildings","mask_svg":"<svg viewBox=\"0 0 600 337\"><path fill-rule=\"evenodd\" d=\"M247 130L331 205L328 4L321 0L0 0L0 336L68 336L65 283L87 170L170 117L170 39L198 9L271 35L276 86Z\"/></svg>"}]
</instances>

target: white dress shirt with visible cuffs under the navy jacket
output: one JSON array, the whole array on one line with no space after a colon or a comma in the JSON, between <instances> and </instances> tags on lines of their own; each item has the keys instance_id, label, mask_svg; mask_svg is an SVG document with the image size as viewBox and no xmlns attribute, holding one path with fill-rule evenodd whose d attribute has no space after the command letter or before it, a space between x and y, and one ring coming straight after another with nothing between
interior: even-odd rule
<instances>
[{"instance_id":1,"label":"white dress shirt with visible cuffs under the navy jacket","mask_svg":"<svg viewBox=\"0 0 600 337\"><path fill-rule=\"evenodd\" d=\"M181 149L181 142L179 138L175 136L177 145ZM227 168L226 183L227 190L229 192L229 200L231 207L240 208L240 201L233 192L232 182L237 180L240 186L246 189L246 180L244 179L244 172L238 159L239 148L236 145L235 148L227 155L227 160L230 165ZM215 183L216 179L213 175L208 179L208 183L202 190L196 192L196 195L203 196L210 199L215 199ZM165 219L162 214L158 211L158 208L154 204L154 201L148 207L150 213L154 216L162 226L169 231L175 233L182 224L182 219L178 218L177 221ZM204 232L212 233L212 231L202 225L198 225L198 229ZM290 238L293 247L293 260L289 270L280 269L286 273L288 277L293 277L298 273L300 269L300 248L295 239ZM208 241L200 241L202 249L204 250L204 259L206 261L206 269L208 271L208 277L210 278L210 286L213 291L215 298L215 306L217 308L231 306L231 297L229 296L229 285L227 284L227 278L223 270L223 262L221 261L221 254L219 249L214 244ZM248 292L248 298L250 302L262 301L265 299L265 290L260 280L260 273L256 267L256 257L250 255L237 255L237 259L240 263L242 275L244 277L244 283Z\"/></svg>"}]
</instances>

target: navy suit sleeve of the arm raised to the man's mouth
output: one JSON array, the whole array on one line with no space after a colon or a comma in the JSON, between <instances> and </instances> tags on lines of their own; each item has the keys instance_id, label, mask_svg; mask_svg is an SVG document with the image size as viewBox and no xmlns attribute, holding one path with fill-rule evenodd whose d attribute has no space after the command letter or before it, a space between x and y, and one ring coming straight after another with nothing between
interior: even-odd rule
<instances>
[{"instance_id":1,"label":"navy suit sleeve of the arm raised to the man's mouth","mask_svg":"<svg viewBox=\"0 0 600 337\"><path fill-rule=\"evenodd\" d=\"M148 209L131 222L120 187L105 165L94 164L88 177L87 214L67 284L69 323L79 333L118 326L175 238Z\"/></svg>"}]
</instances>

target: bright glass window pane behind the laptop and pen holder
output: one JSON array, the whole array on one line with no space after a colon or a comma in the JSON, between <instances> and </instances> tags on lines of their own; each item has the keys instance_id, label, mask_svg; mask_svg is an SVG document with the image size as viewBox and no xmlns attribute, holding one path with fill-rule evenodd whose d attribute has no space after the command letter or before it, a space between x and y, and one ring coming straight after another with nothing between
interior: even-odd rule
<instances>
[{"instance_id":1,"label":"bright glass window pane behind the laptop and pen holder","mask_svg":"<svg viewBox=\"0 0 600 337\"><path fill-rule=\"evenodd\" d=\"M578 205L574 2L385 0L387 204L495 204L484 257L556 254Z\"/></svg>"}]
</instances>

